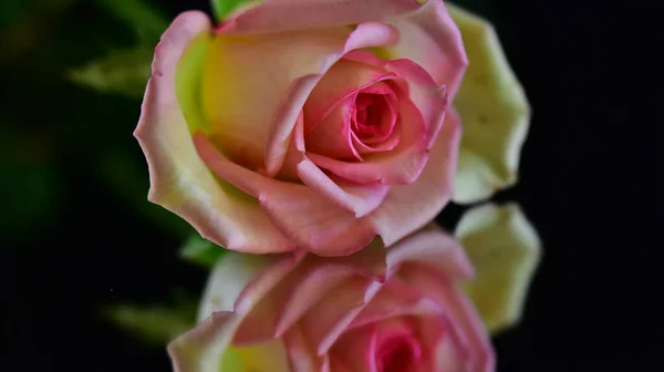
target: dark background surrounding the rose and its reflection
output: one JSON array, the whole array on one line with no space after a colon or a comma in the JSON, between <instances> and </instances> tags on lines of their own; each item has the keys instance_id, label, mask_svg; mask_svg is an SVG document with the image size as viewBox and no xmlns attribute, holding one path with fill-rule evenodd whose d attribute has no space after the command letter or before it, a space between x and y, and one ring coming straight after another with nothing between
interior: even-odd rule
<instances>
[{"instance_id":1,"label":"dark background surrounding the rose and its reflection","mask_svg":"<svg viewBox=\"0 0 664 372\"><path fill-rule=\"evenodd\" d=\"M209 11L207 1L152 3L168 19ZM495 22L533 108L520 183L497 199L521 204L544 257L521 324L495 339L498 370L661 369L655 2L458 3ZM9 352L0 370L165 371L163 349L138 343L98 309L164 301L178 288L198 293L206 272L177 258L177 220L155 224L156 209L143 206L147 173L132 137L138 103L49 78L131 34L91 1L63 14L2 66L0 298ZM108 165L113 156L134 168ZM125 192L134 178L138 192ZM440 220L460 213L450 207Z\"/></svg>"}]
</instances>

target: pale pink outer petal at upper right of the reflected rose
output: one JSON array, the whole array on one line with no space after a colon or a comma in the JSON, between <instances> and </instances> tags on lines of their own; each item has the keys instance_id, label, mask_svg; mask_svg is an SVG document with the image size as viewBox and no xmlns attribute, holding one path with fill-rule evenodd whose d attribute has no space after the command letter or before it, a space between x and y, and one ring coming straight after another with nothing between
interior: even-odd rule
<instances>
[{"instance_id":1,"label":"pale pink outer petal at upper right of the reflected rose","mask_svg":"<svg viewBox=\"0 0 664 372\"><path fill-rule=\"evenodd\" d=\"M386 262L388 273L412 262L433 267L452 279L471 279L474 275L461 244L433 224L390 248Z\"/></svg>"}]
</instances>

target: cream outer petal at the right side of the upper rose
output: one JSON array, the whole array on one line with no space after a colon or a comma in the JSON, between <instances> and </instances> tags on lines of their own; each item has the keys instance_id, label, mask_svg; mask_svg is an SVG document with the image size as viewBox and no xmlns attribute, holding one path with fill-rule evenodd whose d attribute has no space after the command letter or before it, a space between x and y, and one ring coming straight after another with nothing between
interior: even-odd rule
<instances>
[{"instance_id":1,"label":"cream outer petal at the right side of the upper rose","mask_svg":"<svg viewBox=\"0 0 664 372\"><path fill-rule=\"evenodd\" d=\"M468 55L468 69L454 104L464 136L453 200L474 203L513 185L530 107L492 25L448 3Z\"/></svg>"}]
</instances>

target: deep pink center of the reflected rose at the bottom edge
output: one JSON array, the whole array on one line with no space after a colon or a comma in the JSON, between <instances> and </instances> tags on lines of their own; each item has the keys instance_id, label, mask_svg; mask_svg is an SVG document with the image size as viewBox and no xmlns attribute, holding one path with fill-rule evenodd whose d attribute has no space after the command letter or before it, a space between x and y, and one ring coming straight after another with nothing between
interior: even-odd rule
<instances>
[{"instance_id":1,"label":"deep pink center of the reflected rose at the bottom edge","mask_svg":"<svg viewBox=\"0 0 664 372\"><path fill-rule=\"evenodd\" d=\"M401 372L417 363L422 349L413 337L396 337L385 341L376 353L378 372Z\"/></svg>"}]
</instances>

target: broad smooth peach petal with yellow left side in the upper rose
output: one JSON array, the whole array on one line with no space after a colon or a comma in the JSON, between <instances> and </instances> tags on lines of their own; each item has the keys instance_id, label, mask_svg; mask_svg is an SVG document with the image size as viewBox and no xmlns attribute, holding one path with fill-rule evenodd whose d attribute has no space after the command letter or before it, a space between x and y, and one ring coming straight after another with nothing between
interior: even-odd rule
<instances>
[{"instance_id":1,"label":"broad smooth peach petal with yellow left side in the upper rose","mask_svg":"<svg viewBox=\"0 0 664 372\"><path fill-rule=\"evenodd\" d=\"M303 103L350 35L339 28L214 37L201 102L211 134L230 159L251 169L264 166L271 128L286 121L292 130L302 107L294 101Z\"/></svg>"}]
</instances>

